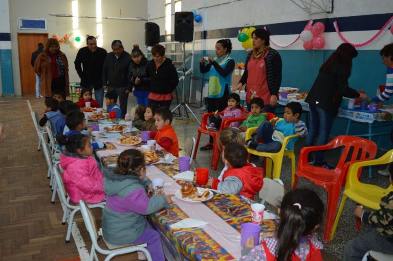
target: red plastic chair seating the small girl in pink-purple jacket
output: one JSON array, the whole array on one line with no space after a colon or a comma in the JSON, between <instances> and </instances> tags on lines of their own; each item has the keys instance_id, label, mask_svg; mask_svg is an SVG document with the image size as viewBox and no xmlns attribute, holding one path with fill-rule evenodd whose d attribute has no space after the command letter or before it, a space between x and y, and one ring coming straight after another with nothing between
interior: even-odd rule
<instances>
[{"instance_id":1,"label":"red plastic chair seating the small girl in pink-purple jacket","mask_svg":"<svg viewBox=\"0 0 393 261\"><path fill-rule=\"evenodd\" d=\"M224 115L225 109L223 111L220 111L219 114L220 115ZM242 110L242 114L244 115L244 113L246 112L246 108L241 106L240 109ZM208 112L208 113L204 113L202 115L201 127L198 128L197 144L195 144L195 148L197 148L197 149L195 150L195 153L194 153L194 159L197 157L197 151L198 151L198 148L199 148L199 140L201 139L201 134L202 133L209 134L209 135L211 135L213 137L213 156L212 156L212 159L211 159L211 168L213 170L216 170L217 169L217 165L219 164L219 157L220 157L220 154L217 153L219 151L219 144L217 143L217 135L220 133L220 131L222 129L225 128L224 126L227 126L226 125L227 121L241 122L242 121L241 119L244 118L244 116L238 117L238 118L227 118L227 119L224 119L221 122L221 126L220 126L220 129L218 131L208 131L206 129L206 125L208 125L207 119L208 119L209 116L211 116L213 114L214 114L213 112ZM228 124L228 126L229 126L229 124Z\"/></svg>"}]
</instances>

